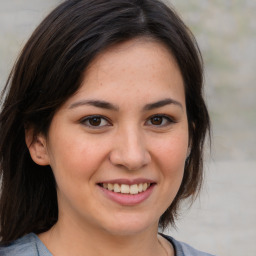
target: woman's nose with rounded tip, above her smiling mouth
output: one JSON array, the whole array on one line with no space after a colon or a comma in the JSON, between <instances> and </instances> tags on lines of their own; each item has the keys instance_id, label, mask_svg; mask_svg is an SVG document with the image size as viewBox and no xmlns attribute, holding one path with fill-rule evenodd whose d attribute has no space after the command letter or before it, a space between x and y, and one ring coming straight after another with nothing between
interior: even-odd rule
<instances>
[{"instance_id":1,"label":"woman's nose with rounded tip, above her smiling mouth","mask_svg":"<svg viewBox=\"0 0 256 256\"><path fill-rule=\"evenodd\" d=\"M127 129L126 132L120 132L114 143L110 152L112 164L128 170L138 170L150 163L150 153L139 131Z\"/></svg>"}]
</instances>

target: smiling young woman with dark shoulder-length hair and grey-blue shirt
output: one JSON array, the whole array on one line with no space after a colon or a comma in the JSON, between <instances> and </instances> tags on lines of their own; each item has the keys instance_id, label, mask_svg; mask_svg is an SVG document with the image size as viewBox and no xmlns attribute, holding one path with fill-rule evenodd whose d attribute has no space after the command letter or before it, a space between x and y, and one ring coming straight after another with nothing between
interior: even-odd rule
<instances>
[{"instance_id":1,"label":"smiling young woman with dark shoulder-length hair and grey-blue shirt","mask_svg":"<svg viewBox=\"0 0 256 256\"><path fill-rule=\"evenodd\" d=\"M0 255L209 255L158 234L202 181L197 44L156 0L68 0L3 92Z\"/></svg>"}]
</instances>

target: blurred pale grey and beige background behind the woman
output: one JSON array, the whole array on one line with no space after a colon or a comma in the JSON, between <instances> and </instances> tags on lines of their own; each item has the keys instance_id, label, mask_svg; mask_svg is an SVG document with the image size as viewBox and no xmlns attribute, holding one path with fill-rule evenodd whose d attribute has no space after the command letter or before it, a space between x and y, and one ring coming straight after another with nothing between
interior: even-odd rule
<instances>
[{"instance_id":1,"label":"blurred pale grey and beige background behind the woman","mask_svg":"<svg viewBox=\"0 0 256 256\"><path fill-rule=\"evenodd\" d=\"M0 89L33 29L60 2L0 0ZM165 232L219 256L255 256L256 0L166 2L204 57L213 145L201 196Z\"/></svg>"}]
</instances>

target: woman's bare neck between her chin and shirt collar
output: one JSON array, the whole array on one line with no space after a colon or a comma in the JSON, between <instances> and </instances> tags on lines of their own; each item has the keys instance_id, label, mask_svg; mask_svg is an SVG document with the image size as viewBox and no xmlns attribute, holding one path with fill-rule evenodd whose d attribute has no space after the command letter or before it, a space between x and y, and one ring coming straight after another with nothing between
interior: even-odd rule
<instances>
[{"instance_id":1,"label":"woman's bare neck between her chin and shirt collar","mask_svg":"<svg viewBox=\"0 0 256 256\"><path fill-rule=\"evenodd\" d=\"M66 225L68 223L68 225ZM159 243L157 223L134 234L110 234L81 223L59 220L49 231L39 235L54 256L131 256L168 255L163 243Z\"/></svg>"}]
</instances>

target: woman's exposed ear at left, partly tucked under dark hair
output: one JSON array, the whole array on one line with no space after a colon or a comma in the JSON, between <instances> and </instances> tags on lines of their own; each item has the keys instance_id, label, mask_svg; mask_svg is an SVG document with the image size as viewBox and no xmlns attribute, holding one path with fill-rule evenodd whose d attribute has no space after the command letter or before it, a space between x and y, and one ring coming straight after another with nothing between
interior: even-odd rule
<instances>
[{"instance_id":1,"label":"woman's exposed ear at left, partly tucked under dark hair","mask_svg":"<svg viewBox=\"0 0 256 256\"><path fill-rule=\"evenodd\" d=\"M42 134L34 135L33 128L25 128L25 140L33 161L38 165L49 165L45 136Z\"/></svg>"}]
</instances>

